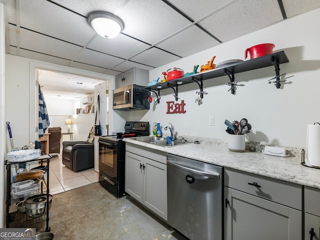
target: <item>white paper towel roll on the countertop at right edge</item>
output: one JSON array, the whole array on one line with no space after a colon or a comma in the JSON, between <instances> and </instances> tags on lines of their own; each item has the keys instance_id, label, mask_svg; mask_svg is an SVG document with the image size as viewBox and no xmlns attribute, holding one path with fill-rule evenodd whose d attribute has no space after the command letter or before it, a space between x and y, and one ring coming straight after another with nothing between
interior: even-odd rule
<instances>
[{"instance_id":1,"label":"white paper towel roll on the countertop at right edge","mask_svg":"<svg viewBox=\"0 0 320 240\"><path fill-rule=\"evenodd\" d=\"M320 125L308 124L306 132L306 160L320 167Z\"/></svg>"}]
</instances>

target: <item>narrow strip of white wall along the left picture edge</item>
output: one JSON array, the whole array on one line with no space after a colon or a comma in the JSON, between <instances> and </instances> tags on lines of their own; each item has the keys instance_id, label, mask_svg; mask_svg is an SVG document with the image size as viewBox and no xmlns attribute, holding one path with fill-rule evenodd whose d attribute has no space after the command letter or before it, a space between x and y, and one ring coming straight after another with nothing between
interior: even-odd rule
<instances>
[{"instance_id":1,"label":"narrow strip of white wall along the left picture edge","mask_svg":"<svg viewBox=\"0 0 320 240\"><path fill-rule=\"evenodd\" d=\"M0 144L0 175L2 175L2 179L4 175L4 160L6 157L6 150L5 150L5 33L4 33L4 10L3 10L3 3L0 2L0 104L1 104L1 110L0 110L0 119L1 119L1 126L0 126L0 138L1 138L1 144ZM4 184L5 181L1 181L0 184L0 206L3 206L3 208L0 208L0 228L3 228L4 224L4 214L3 209L4 208Z\"/></svg>"}]
</instances>

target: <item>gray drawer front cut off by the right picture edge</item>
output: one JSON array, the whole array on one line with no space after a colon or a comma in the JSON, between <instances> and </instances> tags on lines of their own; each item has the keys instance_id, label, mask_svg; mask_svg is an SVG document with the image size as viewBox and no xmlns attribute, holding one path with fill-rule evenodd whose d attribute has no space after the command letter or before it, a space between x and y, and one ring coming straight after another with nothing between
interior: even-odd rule
<instances>
[{"instance_id":1,"label":"gray drawer front cut off by the right picture edge","mask_svg":"<svg viewBox=\"0 0 320 240\"><path fill-rule=\"evenodd\" d=\"M304 187L304 212L320 217L320 190Z\"/></svg>"}]
</instances>

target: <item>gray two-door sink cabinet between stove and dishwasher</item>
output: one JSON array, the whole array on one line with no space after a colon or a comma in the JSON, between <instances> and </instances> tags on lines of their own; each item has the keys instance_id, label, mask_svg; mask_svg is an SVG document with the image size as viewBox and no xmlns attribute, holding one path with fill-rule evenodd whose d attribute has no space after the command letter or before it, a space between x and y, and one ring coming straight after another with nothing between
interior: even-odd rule
<instances>
[{"instance_id":1,"label":"gray two-door sink cabinet between stove and dishwasher","mask_svg":"<svg viewBox=\"0 0 320 240\"><path fill-rule=\"evenodd\" d=\"M167 220L165 159L160 151L126 143L125 192Z\"/></svg>"}]
</instances>

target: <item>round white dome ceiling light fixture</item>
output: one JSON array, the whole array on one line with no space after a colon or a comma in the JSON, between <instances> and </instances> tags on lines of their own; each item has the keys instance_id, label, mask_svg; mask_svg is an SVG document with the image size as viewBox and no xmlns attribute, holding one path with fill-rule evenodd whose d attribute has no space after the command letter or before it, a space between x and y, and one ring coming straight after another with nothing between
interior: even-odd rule
<instances>
[{"instance_id":1,"label":"round white dome ceiling light fixture","mask_svg":"<svg viewBox=\"0 0 320 240\"><path fill-rule=\"evenodd\" d=\"M104 38L116 37L124 28L121 18L107 11L93 11L87 20L96 33Z\"/></svg>"}]
</instances>

